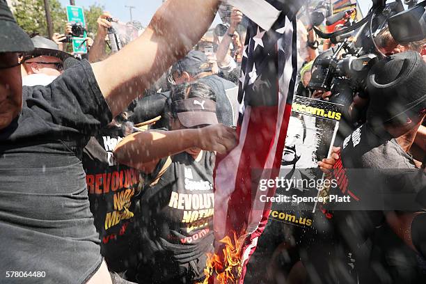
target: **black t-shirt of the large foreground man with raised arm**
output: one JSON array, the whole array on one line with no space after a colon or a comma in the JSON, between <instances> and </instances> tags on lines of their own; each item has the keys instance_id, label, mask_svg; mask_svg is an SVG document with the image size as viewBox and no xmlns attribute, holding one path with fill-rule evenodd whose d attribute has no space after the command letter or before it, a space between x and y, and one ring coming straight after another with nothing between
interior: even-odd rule
<instances>
[{"instance_id":1,"label":"black t-shirt of the large foreground man with raised arm","mask_svg":"<svg viewBox=\"0 0 426 284\"><path fill-rule=\"evenodd\" d=\"M81 152L111 111L87 61L22 96L21 113L0 130L1 278L44 271L42 283L85 283L102 255Z\"/></svg>"}]
</instances>

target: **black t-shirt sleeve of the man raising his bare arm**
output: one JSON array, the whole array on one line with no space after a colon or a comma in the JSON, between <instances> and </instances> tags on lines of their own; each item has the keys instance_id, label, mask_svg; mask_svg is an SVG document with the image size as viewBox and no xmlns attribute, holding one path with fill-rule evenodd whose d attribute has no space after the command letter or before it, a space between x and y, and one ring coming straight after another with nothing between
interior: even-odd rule
<instances>
[{"instance_id":1,"label":"black t-shirt sleeve of the man raising his bare arm","mask_svg":"<svg viewBox=\"0 0 426 284\"><path fill-rule=\"evenodd\" d=\"M24 104L24 109L28 107L27 116L38 116L52 129L63 133L92 135L112 120L86 60L66 70L48 86L24 88Z\"/></svg>"}]
</instances>

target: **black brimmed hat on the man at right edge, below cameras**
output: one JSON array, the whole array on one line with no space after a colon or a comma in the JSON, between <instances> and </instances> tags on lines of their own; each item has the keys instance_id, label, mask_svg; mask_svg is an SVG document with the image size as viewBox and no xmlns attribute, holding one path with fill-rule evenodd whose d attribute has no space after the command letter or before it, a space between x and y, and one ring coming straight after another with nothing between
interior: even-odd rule
<instances>
[{"instance_id":1,"label":"black brimmed hat on the man at right edge, below cameras","mask_svg":"<svg viewBox=\"0 0 426 284\"><path fill-rule=\"evenodd\" d=\"M384 58L370 70L367 88L370 124L404 123L426 109L426 63L418 52Z\"/></svg>"}]
</instances>

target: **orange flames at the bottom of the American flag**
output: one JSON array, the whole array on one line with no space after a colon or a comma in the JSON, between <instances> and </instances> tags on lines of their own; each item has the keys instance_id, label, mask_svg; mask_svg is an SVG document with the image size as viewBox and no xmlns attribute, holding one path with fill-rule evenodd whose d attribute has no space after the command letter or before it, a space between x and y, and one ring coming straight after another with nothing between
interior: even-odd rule
<instances>
[{"instance_id":1,"label":"orange flames at the bottom of the American flag","mask_svg":"<svg viewBox=\"0 0 426 284\"><path fill-rule=\"evenodd\" d=\"M209 283L209 278L216 276L220 284L237 283L241 276L241 253L242 240L244 236L237 238L237 234L232 232L233 239L226 236L221 239L221 243L225 245L223 248L223 260L221 256L215 253L207 253L207 263L204 269L205 280L203 284Z\"/></svg>"}]
</instances>

